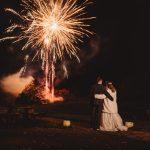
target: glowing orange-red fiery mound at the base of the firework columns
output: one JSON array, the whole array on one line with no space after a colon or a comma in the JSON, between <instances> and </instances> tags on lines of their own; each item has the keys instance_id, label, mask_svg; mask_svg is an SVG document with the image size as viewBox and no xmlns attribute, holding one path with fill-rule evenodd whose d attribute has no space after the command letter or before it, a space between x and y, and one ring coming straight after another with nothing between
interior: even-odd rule
<instances>
[{"instance_id":1,"label":"glowing orange-red fiery mound at the base of the firework columns","mask_svg":"<svg viewBox=\"0 0 150 150\"><path fill-rule=\"evenodd\" d=\"M48 96L45 96L44 80L31 82L23 92L18 96L16 103L18 104L48 104L64 101L64 97L69 94L67 89L55 89L54 97L52 98L49 91Z\"/></svg>"}]
</instances>

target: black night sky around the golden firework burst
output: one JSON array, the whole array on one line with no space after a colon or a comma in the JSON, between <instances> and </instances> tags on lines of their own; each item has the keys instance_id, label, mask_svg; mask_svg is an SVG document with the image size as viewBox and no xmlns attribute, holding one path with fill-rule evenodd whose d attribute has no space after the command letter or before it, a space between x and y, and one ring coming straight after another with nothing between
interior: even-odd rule
<instances>
[{"instance_id":1,"label":"black night sky around the golden firework burst","mask_svg":"<svg viewBox=\"0 0 150 150\"><path fill-rule=\"evenodd\" d=\"M100 74L104 81L115 84L121 100L148 102L150 6L144 0L93 2L87 11L89 16L96 17L90 21L90 28L96 35L85 38L84 44L80 44L81 64L69 61L69 79L59 86L87 96ZM21 10L19 3L19 0L0 1L0 37L3 37L4 29L12 18L3 9L10 7ZM98 50L93 50L91 41L95 41ZM23 66L24 54L19 51L20 48L21 44L0 43L0 77L12 74Z\"/></svg>"}]
</instances>

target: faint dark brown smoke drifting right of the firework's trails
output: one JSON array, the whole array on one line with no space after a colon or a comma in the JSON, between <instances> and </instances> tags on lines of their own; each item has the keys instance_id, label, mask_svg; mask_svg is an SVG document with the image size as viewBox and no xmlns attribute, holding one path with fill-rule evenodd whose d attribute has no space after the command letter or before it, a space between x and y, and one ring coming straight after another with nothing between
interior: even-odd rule
<instances>
[{"instance_id":1,"label":"faint dark brown smoke drifting right of the firework's trails","mask_svg":"<svg viewBox=\"0 0 150 150\"><path fill-rule=\"evenodd\" d=\"M100 54L101 43L101 37L99 35L94 35L90 39L88 45L86 45L84 48L81 48L78 52L80 62L74 58L71 60L66 59L63 60L62 63L59 63L55 68L55 86L59 86L59 84L65 82L65 79L70 78L71 75L75 76L82 74L87 65L89 65L90 62Z\"/></svg>"}]
</instances>

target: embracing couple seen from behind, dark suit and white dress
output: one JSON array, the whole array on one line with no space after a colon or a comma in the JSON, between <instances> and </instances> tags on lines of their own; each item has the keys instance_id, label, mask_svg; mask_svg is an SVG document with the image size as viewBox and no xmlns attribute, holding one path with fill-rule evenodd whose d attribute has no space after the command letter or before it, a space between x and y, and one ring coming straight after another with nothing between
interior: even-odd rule
<instances>
[{"instance_id":1,"label":"embracing couple seen from behind, dark suit and white dress","mask_svg":"<svg viewBox=\"0 0 150 150\"><path fill-rule=\"evenodd\" d=\"M118 113L117 91L112 82L106 82L100 76L91 90L91 128L101 131L127 131L128 127Z\"/></svg>"}]
</instances>

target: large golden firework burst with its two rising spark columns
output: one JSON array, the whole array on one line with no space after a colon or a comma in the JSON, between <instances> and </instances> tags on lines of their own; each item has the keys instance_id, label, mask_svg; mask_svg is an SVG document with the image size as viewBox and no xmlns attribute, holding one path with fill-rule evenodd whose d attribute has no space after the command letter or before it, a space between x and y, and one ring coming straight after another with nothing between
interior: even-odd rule
<instances>
[{"instance_id":1,"label":"large golden firework burst with its two rising spark columns","mask_svg":"<svg viewBox=\"0 0 150 150\"><path fill-rule=\"evenodd\" d=\"M20 13L10 8L5 9L20 18L22 23L13 23L6 29L6 33L10 35L19 30L18 35L7 36L0 41L12 40L14 43L26 41L22 50L36 49L32 60L37 57L42 59L42 68L46 76L46 92L49 91L49 80L52 84L51 92L54 94L57 59L65 59L66 53L70 58L74 56L79 60L78 41L82 42L84 36L93 34L86 29L89 25L84 23L85 20L95 18L84 17L85 8L91 4L91 1L83 0L80 5L77 3L78 0L22 0L24 9Z\"/></svg>"}]
</instances>

